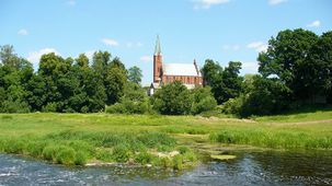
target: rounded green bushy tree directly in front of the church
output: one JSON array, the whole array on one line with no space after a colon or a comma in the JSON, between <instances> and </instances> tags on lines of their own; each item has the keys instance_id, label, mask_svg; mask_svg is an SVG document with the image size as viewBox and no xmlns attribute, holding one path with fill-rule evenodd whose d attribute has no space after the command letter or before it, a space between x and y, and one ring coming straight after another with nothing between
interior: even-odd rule
<instances>
[{"instance_id":1,"label":"rounded green bushy tree directly in front of the church","mask_svg":"<svg viewBox=\"0 0 332 186\"><path fill-rule=\"evenodd\" d=\"M152 105L160 114L185 115L191 112L191 93L181 82L163 85L152 96Z\"/></svg>"}]
</instances>

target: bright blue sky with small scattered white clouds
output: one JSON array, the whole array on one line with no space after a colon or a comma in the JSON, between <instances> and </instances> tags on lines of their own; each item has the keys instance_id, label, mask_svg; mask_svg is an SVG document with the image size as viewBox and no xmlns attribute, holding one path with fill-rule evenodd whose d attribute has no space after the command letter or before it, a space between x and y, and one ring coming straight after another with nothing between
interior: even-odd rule
<instances>
[{"instance_id":1,"label":"bright blue sky with small scattered white clouds","mask_svg":"<svg viewBox=\"0 0 332 186\"><path fill-rule=\"evenodd\" d=\"M222 67L241 61L257 72L257 55L279 31L332 30L331 0L0 0L0 45L37 69L43 54L65 58L96 50L119 57L152 81L157 35L163 62Z\"/></svg>"}]
</instances>

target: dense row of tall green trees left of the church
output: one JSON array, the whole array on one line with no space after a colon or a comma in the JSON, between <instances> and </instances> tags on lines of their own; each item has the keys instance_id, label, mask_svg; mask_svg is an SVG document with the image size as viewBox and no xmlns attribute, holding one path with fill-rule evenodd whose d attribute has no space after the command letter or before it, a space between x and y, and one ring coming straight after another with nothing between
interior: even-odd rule
<instances>
[{"instance_id":1,"label":"dense row of tall green trees left of the church","mask_svg":"<svg viewBox=\"0 0 332 186\"><path fill-rule=\"evenodd\" d=\"M12 46L0 53L0 112L94 113L123 95L127 70L107 51L77 59L54 53L43 55L34 72L32 63L18 57Z\"/></svg>"}]
</instances>

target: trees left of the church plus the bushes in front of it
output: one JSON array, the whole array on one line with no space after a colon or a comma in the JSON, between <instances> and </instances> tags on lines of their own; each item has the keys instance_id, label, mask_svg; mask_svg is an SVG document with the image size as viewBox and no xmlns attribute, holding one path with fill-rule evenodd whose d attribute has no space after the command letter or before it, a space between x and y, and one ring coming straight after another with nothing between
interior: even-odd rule
<instances>
[{"instance_id":1,"label":"trees left of the church plus the bushes in front of it","mask_svg":"<svg viewBox=\"0 0 332 186\"><path fill-rule=\"evenodd\" d=\"M217 103L208 88L187 90L176 82L148 97L141 88L141 70L126 69L119 58L96 51L90 63L81 54L66 58L43 55L37 71L14 54L12 46L0 49L0 113L160 113L199 114ZM107 106L108 105L108 106Z\"/></svg>"}]
</instances>

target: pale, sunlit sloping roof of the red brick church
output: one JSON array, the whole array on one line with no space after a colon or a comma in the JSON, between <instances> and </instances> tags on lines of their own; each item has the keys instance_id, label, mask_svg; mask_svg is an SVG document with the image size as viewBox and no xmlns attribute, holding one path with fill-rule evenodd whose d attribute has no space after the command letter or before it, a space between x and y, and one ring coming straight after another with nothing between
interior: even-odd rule
<instances>
[{"instance_id":1,"label":"pale, sunlit sloping roof of the red brick church","mask_svg":"<svg viewBox=\"0 0 332 186\"><path fill-rule=\"evenodd\" d=\"M164 63L162 66L162 72L165 75L191 75L201 77L201 73L196 71L194 63Z\"/></svg>"}]
</instances>

